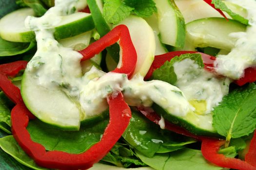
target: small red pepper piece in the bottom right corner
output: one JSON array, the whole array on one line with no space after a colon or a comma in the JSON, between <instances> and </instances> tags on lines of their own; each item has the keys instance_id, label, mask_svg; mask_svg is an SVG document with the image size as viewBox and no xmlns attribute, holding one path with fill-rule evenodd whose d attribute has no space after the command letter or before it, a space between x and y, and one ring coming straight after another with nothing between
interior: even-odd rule
<instances>
[{"instance_id":1,"label":"small red pepper piece in the bottom right corner","mask_svg":"<svg viewBox=\"0 0 256 170\"><path fill-rule=\"evenodd\" d=\"M251 140L249 151L245 155L245 161L256 167L256 131L254 132L253 139Z\"/></svg>"}]
</instances>

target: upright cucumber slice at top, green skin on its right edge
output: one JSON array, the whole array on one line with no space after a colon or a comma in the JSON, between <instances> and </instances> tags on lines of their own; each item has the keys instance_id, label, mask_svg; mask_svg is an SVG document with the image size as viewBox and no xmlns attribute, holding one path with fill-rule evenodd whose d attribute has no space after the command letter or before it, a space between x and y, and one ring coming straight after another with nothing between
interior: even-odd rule
<instances>
[{"instance_id":1,"label":"upright cucumber slice at top, green skin on its right edge","mask_svg":"<svg viewBox=\"0 0 256 170\"><path fill-rule=\"evenodd\" d=\"M185 43L185 21L174 0L154 0L158 9L161 41L175 47Z\"/></svg>"}]
</instances>

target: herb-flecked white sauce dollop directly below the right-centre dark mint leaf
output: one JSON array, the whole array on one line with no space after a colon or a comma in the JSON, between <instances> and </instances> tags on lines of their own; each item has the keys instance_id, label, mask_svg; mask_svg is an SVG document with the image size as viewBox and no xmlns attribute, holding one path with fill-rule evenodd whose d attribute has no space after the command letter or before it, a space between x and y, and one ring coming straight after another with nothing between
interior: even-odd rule
<instances>
[{"instance_id":1,"label":"herb-flecked white sauce dollop directly below the right-centre dark mint leaf","mask_svg":"<svg viewBox=\"0 0 256 170\"><path fill-rule=\"evenodd\" d=\"M199 68L194 60L184 59L174 63L176 86L189 101L206 101L205 113L211 113L222 98L228 94L229 78L216 78L214 74Z\"/></svg>"}]
</instances>

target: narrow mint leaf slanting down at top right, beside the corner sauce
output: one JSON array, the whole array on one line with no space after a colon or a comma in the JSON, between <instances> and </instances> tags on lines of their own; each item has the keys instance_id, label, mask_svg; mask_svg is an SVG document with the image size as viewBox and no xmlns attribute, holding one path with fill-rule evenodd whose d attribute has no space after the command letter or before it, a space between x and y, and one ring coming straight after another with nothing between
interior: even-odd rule
<instances>
[{"instance_id":1,"label":"narrow mint leaf slanting down at top right, beside the corner sauce","mask_svg":"<svg viewBox=\"0 0 256 170\"><path fill-rule=\"evenodd\" d=\"M224 11L228 13L230 17L237 20L238 22L241 22L242 24L248 25L248 19L240 16L239 14L234 13L231 11L222 0L212 0L212 4L214 4L215 8L220 9L221 11Z\"/></svg>"}]
</instances>

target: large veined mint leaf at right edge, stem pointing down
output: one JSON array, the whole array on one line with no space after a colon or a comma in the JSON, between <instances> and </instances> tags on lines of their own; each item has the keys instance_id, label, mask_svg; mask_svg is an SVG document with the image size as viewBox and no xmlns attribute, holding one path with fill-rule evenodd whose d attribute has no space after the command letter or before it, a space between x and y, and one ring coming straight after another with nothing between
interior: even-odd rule
<instances>
[{"instance_id":1,"label":"large veined mint leaf at right edge, stem pointing down","mask_svg":"<svg viewBox=\"0 0 256 170\"><path fill-rule=\"evenodd\" d=\"M225 96L214 108L213 127L226 136L226 147L231 138L249 135L256 127L256 85L238 87Z\"/></svg>"}]
</instances>

